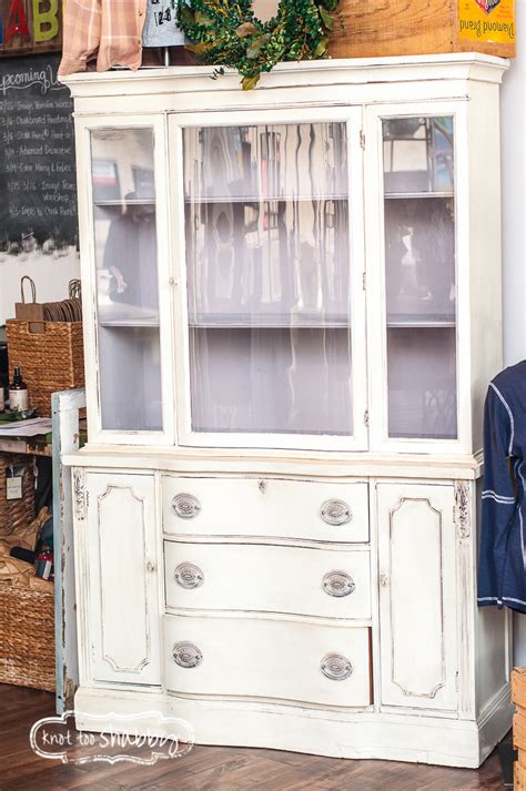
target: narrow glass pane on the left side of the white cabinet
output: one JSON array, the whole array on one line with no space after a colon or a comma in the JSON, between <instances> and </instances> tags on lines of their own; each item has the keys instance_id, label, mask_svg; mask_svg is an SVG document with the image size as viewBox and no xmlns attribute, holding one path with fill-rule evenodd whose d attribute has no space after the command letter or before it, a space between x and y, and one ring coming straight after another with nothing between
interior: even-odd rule
<instances>
[{"instance_id":1,"label":"narrow glass pane on the left side of the white cabinet","mask_svg":"<svg viewBox=\"0 0 526 791\"><path fill-rule=\"evenodd\" d=\"M160 430L153 131L92 131L91 155L102 428Z\"/></svg>"}]
</instances>

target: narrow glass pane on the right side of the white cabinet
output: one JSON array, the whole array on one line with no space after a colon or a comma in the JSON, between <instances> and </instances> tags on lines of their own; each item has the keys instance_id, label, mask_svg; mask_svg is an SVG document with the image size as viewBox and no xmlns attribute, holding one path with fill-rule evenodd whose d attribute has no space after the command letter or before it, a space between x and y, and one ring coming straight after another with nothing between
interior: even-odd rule
<instances>
[{"instance_id":1,"label":"narrow glass pane on the right side of the white cabinet","mask_svg":"<svg viewBox=\"0 0 526 791\"><path fill-rule=\"evenodd\" d=\"M385 119L383 134L390 436L454 439L453 118Z\"/></svg>"}]
</instances>

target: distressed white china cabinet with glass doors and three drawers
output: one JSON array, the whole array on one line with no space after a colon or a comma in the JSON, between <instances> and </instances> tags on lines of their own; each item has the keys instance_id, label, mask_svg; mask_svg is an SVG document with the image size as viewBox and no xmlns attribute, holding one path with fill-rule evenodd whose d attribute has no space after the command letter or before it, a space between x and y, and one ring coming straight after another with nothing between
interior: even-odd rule
<instances>
[{"instance_id":1,"label":"distressed white china cabinet with glass doors and three drawers","mask_svg":"<svg viewBox=\"0 0 526 791\"><path fill-rule=\"evenodd\" d=\"M459 767L508 729L508 619L475 587L506 65L65 80L80 727Z\"/></svg>"}]
</instances>

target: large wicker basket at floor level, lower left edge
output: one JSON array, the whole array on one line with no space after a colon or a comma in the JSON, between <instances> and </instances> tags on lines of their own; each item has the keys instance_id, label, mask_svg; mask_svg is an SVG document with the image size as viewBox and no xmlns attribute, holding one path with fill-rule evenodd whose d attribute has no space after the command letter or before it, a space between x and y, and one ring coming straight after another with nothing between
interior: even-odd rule
<instances>
[{"instance_id":1,"label":"large wicker basket at floor level, lower left edge","mask_svg":"<svg viewBox=\"0 0 526 791\"><path fill-rule=\"evenodd\" d=\"M0 576L0 683L53 692L54 589L18 588Z\"/></svg>"}]
</instances>

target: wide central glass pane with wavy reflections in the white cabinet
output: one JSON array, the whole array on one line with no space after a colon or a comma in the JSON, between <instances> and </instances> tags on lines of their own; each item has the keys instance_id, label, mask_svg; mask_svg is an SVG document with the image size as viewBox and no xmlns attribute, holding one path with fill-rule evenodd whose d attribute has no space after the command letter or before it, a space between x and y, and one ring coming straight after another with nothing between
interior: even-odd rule
<instances>
[{"instance_id":1,"label":"wide central glass pane with wavy reflections in the white cabinet","mask_svg":"<svg viewBox=\"0 0 526 791\"><path fill-rule=\"evenodd\" d=\"M183 144L193 430L352 434L345 124Z\"/></svg>"}]
</instances>

